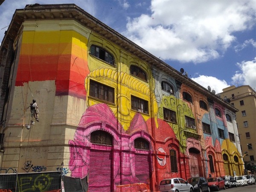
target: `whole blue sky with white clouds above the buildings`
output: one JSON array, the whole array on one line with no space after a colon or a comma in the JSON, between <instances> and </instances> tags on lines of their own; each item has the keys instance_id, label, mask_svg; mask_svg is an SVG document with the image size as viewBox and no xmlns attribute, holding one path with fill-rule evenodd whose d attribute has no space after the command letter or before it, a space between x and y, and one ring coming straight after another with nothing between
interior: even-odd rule
<instances>
[{"instance_id":1,"label":"whole blue sky with white clouds above the buildings","mask_svg":"<svg viewBox=\"0 0 256 192\"><path fill-rule=\"evenodd\" d=\"M5 0L0 42L15 9L75 3L176 70L216 93L256 90L256 0Z\"/></svg>"}]
</instances>

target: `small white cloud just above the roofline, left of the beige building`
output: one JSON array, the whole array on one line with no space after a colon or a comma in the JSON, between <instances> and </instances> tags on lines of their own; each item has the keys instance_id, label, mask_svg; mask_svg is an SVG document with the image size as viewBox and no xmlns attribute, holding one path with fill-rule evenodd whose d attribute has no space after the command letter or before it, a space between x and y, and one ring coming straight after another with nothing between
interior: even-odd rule
<instances>
[{"instance_id":1,"label":"small white cloud just above the roofline, left of the beige building","mask_svg":"<svg viewBox=\"0 0 256 192\"><path fill-rule=\"evenodd\" d=\"M226 87L230 87L229 84L225 80L217 79L216 77L212 76L198 76L196 78L191 78L193 81L197 82L201 86L207 89L208 86L211 87L212 90L215 90L216 93L223 92L222 89Z\"/></svg>"}]
</instances>

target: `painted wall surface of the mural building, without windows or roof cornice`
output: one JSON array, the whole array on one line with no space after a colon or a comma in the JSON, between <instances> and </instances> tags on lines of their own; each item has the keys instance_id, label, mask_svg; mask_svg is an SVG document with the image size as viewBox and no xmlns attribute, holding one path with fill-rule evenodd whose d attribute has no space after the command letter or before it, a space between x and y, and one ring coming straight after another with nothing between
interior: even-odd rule
<instances>
[{"instance_id":1,"label":"painted wall surface of the mural building, without windows or roof cornice","mask_svg":"<svg viewBox=\"0 0 256 192\"><path fill-rule=\"evenodd\" d=\"M17 44L1 173L62 170L71 177L89 175L90 191L113 191L130 183L157 190L167 177L241 172L239 145L227 137L227 130L236 127L226 123L226 109L136 55L73 20L26 21ZM93 56L92 45L111 53L114 64ZM141 69L146 79L131 74L131 66ZM92 81L113 89L113 102L90 95ZM163 81L172 93L162 89ZM192 101L184 99L183 92ZM132 109L133 96L143 99L147 111ZM33 98L39 122L28 129L32 118L27 107ZM207 110L200 107L201 100ZM216 117L215 108L222 117ZM165 110L172 111L175 120L166 120ZM188 126L191 119L195 125ZM203 122L211 134L204 133ZM224 130L224 139L218 128ZM108 144L91 142L95 133ZM222 159L223 153L231 164ZM235 155L239 161L232 164Z\"/></svg>"}]
</instances>

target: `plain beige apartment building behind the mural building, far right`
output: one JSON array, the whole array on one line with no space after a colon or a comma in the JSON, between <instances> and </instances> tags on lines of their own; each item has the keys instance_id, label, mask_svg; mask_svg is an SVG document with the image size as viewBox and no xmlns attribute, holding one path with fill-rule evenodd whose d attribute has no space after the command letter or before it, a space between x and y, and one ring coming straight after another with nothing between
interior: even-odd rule
<instances>
[{"instance_id":1,"label":"plain beige apartment building behind the mural building, far right","mask_svg":"<svg viewBox=\"0 0 256 192\"><path fill-rule=\"evenodd\" d=\"M236 122L244 155L246 169L256 166L256 91L249 85L236 87L234 85L223 89L221 97L235 108Z\"/></svg>"}]
</instances>

